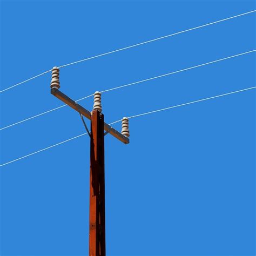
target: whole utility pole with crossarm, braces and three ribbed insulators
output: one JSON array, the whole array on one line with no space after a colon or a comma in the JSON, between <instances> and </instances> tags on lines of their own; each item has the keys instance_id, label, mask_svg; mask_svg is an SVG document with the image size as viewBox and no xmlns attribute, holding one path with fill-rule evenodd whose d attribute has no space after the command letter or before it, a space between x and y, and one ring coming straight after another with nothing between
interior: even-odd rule
<instances>
[{"instance_id":1,"label":"whole utility pole with crossarm, braces and three ribbed insulators","mask_svg":"<svg viewBox=\"0 0 256 256\"><path fill-rule=\"evenodd\" d=\"M52 69L51 94L75 109L81 116L87 130L90 144L90 210L89 210L89 256L105 256L105 166L104 136L110 133L124 144L129 143L129 120L122 120L122 132L104 123L100 92L95 92L92 112L77 104L59 91L59 69ZM91 132L87 129L83 116L91 120ZM106 131L104 133L104 130Z\"/></svg>"}]
</instances>

